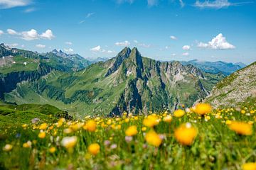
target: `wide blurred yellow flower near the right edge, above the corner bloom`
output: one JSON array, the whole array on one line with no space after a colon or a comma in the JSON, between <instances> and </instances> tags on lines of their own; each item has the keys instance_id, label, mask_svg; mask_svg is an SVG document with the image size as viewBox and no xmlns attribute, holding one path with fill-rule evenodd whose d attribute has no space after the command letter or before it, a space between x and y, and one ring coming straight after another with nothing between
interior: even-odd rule
<instances>
[{"instance_id":1,"label":"wide blurred yellow flower near the right edge, above the corner bloom","mask_svg":"<svg viewBox=\"0 0 256 170\"><path fill-rule=\"evenodd\" d=\"M248 123L233 121L229 125L229 128L230 130L235 131L239 135L252 135L252 125Z\"/></svg>"}]
</instances>

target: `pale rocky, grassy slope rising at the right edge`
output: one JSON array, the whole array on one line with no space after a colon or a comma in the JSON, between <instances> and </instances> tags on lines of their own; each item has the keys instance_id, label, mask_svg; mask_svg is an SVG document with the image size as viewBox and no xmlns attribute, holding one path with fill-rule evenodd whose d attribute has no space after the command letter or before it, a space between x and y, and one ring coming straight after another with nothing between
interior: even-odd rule
<instances>
[{"instance_id":1,"label":"pale rocky, grassy slope rising at the right edge","mask_svg":"<svg viewBox=\"0 0 256 170\"><path fill-rule=\"evenodd\" d=\"M220 81L206 97L215 108L239 106L256 101L256 62Z\"/></svg>"}]
</instances>

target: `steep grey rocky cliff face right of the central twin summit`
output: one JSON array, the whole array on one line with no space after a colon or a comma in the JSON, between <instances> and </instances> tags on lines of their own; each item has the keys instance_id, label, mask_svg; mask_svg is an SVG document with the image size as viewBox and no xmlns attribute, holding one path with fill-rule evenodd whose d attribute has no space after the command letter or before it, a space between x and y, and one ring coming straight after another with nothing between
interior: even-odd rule
<instances>
[{"instance_id":1,"label":"steep grey rocky cliff face right of the central twin summit","mask_svg":"<svg viewBox=\"0 0 256 170\"><path fill-rule=\"evenodd\" d=\"M192 65L183 66L180 62L150 60L142 57L137 48L132 49L115 70L107 75L117 74L116 77L129 81L110 115L124 111L174 110L181 104L192 105L196 100L203 100L210 91L201 82L207 78L200 69Z\"/></svg>"}]
</instances>

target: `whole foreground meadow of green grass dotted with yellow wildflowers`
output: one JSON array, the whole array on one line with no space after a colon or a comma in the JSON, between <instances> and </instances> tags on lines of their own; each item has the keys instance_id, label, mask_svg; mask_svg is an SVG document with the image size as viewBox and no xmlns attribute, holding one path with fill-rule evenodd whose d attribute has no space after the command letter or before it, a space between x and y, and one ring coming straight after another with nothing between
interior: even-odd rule
<instances>
[{"instance_id":1,"label":"whole foreground meadow of green grass dotted with yellow wildflowers","mask_svg":"<svg viewBox=\"0 0 256 170\"><path fill-rule=\"evenodd\" d=\"M50 115L49 115L50 116ZM256 169L254 106L3 125L0 169Z\"/></svg>"}]
</instances>

